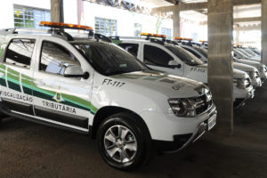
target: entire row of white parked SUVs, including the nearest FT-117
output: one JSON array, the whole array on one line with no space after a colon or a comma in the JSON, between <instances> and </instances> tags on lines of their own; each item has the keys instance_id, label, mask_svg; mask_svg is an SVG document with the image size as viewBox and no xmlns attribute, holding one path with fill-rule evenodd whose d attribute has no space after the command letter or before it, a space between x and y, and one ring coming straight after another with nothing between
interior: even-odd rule
<instances>
[{"instance_id":1,"label":"entire row of white parked SUVs, including the nearest FT-117","mask_svg":"<svg viewBox=\"0 0 267 178\"><path fill-rule=\"evenodd\" d=\"M89 134L120 170L144 165L152 150L182 150L216 124L206 45L153 34L113 38L117 45L91 27L40 25L49 29L0 30L1 120L8 115ZM266 77L266 67L253 62L234 69L238 105Z\"/></svg>"}]
</instances>

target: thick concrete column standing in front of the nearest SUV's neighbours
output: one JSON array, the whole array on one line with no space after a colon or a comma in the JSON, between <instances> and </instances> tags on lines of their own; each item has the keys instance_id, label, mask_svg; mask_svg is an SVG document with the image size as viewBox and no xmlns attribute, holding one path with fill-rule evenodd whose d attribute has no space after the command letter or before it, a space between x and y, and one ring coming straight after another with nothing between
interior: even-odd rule
<instances>
[{"instance_id":1,"label":"thick concrete column standing in front of the nearest SUV's neighbours","mask_svg":"<svg viewBox=\"0 0 267 178\"><path fill-rule=\"evenodd\" d=\"M217 131L233 133L233 0L208 0L208 86L218 109Z\"/></svg>"}]
</instances>

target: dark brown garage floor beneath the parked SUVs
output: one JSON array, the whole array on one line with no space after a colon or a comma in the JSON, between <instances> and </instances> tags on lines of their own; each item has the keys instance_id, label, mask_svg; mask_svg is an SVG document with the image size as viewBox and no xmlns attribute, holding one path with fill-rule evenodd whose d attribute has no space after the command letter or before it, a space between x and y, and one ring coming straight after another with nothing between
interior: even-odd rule
<instances>
[{"instance_id":1,"label":"dark brown garage floor beneath the parked SUVs","mask_svg":"<svg viewBox=\"0 0 267 178\"><path fill-rule=\"evenodd\" d=\"M206 134L187 150L123 173L85 135L8 118L0 129L0 177L267 177L267 84L235 111L235 124L233 136Z\"/></svg>"}]
</instances>

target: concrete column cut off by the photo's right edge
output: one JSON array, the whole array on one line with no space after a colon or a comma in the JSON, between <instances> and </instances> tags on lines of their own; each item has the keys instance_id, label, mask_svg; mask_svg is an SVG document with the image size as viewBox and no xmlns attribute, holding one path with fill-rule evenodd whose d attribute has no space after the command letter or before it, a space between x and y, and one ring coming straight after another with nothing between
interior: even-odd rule
<instances>
[{"instance_id":1,"label":"concrete column cut off by the photo's right edge","mask_svg":"<svg viewBox=\"0 0 267 178\"><path fill-rule=\"evenodd\" d=\"M262 63L267 65L267 0L262 0Z\"/></svg>"}]
</instances>

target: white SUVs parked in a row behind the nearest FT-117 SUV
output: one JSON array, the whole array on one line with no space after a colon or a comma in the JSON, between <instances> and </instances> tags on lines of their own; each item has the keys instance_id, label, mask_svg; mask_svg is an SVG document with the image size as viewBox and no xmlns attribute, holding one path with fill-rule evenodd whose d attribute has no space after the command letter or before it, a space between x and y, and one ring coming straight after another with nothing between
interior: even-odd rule
<instances>
[{"instance_id":1,"label":"white SUVs parked in a row behind the nearest FT-117 SUV","mask_svg":"<svg viewBox=\"0 0 267 178\"><path fill-rule=\"evenodd\" d=\"M195 43L190 38L142 33L146 37L112 37L114 42L132 53L151 69L158 69L176 76L187 77L207 84L206 42ZM155 38L157 37L157 38ZM161 37L161 38L160 38ZM249 53L248 53L249 52ZM255 89L263 85L267 68L261 63L256 49L234 47L233 57L233 101L239 108L255 96Z\"/></svg>"}]
</instances>

